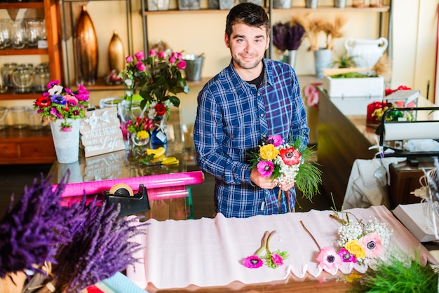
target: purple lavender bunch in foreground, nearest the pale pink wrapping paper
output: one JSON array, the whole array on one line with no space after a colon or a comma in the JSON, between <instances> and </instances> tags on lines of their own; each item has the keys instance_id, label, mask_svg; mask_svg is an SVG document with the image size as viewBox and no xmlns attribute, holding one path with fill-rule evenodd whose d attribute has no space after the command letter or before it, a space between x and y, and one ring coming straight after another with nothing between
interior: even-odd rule
<instances>
[{"instance_id":1,"label":"purple lavender bunch in foreground, nearest the pale pink wrapping paper","mask_svg":"<svg viewBox=\"0 0 439 293\"><path fill-rule=\"evenodd\" d=\"M60 247L58 265L55 266L53 284L67 292L80 292L90 285L109 278L133 264L133 254L141 250L139 243L130 237L144 230L144 224L135 225L137 218L117 218L120 207L112 207L93 200L88 205L74 207L86 219L72 229L72 242Z\"/></svg>"}]
</instances>

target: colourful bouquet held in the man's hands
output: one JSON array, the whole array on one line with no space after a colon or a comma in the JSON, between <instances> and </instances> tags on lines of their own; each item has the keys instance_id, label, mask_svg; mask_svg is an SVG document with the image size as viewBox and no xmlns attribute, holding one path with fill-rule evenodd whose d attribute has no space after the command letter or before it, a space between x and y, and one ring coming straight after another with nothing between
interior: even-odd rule
<instances>
[{"instance_id":1,"label":"colourful bouquet held in the man's hands","mask_svg":"<svg viewBox=\"0 0 439 293\"><path fill-rule=\"evenodd\" d=\"M301 140L285 142L281 135L271 135L262 141L258 152L250 151L249 154L250 168L257 168L263 177L271 177L280 184L295 183L309 200L319 192L321 171L316 166L313 151L303 147Z\"/></svg>"}]
</instances>

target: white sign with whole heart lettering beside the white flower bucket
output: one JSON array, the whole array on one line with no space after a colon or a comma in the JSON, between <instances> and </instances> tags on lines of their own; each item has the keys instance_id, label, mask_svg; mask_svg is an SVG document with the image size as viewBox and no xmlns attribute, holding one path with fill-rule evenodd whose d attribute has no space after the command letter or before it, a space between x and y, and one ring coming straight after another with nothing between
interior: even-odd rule
<instances>
[{"instance_id":1,"label":"white sign with whole heart lettering beside the white flower bucket","mask_svg":"<svg viewBox=\"0 0 439 293\"><path fill-rule=\"evenodd\" d=\"M86 158L125 149L116 107L87 111L79 132Z\"/></svg>"}]
</instances>

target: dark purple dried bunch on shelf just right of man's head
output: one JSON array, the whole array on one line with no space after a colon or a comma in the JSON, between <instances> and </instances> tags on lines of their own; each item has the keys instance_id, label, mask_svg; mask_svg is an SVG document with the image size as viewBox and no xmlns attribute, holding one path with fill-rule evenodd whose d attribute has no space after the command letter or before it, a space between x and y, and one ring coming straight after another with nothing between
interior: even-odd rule
<instances>
[{"instance_id":1,"label":"dark purple dried bunch on shelf just right of man's head","mask_svg":"<svg viewBox=\"0 0 439 293\"><path fill-rule=\"evenodd\" d=\"M281 51L297 50L304 36L305 29L302 25L291 26L290 22L273 25L273 45Z\"/></svg>"}]
</instances>

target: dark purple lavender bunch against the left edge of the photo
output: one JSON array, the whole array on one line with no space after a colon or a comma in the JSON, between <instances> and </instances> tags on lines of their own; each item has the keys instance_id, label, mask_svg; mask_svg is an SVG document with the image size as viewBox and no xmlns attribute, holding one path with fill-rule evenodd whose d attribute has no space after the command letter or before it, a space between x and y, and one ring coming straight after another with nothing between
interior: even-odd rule
<instances>
[{"instance_id":1,"label":"dark purple lavender bunch against the left edge of the photo","mask_svg":"<svg viewBox=\"0 0 439 293\"><path fill-rule=\"evenodd\" d=\"M41 175L40 183L34 179L32 186L25 186L15 206L12 196L0 222L0 278L25 269L44 274L35 266L55 262L57 245L71 241L66 221L72 213L59 201L65 182L66 177L52 191L50 178L45 180Z\"/></svg>"}]
</instances>

